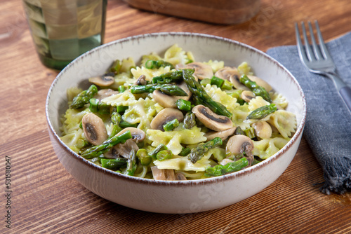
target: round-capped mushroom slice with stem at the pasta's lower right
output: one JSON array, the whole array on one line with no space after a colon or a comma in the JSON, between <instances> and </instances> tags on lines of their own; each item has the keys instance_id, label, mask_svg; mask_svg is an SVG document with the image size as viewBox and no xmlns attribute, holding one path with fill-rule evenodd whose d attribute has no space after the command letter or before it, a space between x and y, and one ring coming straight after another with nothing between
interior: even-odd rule
<instances>
[{"instance_id":1,"label":"round-capped mushroom slice with stem at the pasta's lower right","mask_svg":"<svg viewBox=\"0 0 351 234\"><path fill-rule=\"evenodd\" d=\"M249 167L253 162L253 141L245 135L234 135L230 137L225 147L227 153L233 153L234 156L238 156L242 153L246 153L246 158L249 161Z\"/></svg>"}]
</instances>

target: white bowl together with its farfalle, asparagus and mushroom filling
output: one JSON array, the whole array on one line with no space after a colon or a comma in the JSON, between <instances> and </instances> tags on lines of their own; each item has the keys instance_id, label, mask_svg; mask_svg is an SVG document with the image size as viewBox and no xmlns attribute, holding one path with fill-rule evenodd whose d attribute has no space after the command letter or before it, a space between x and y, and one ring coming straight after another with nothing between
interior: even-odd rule
<instances>
[{"instance_id":1,"label":"white bowl together with its farfalle, asparagus and mushroom filling","mask_svg":"<svg viewBox=\"0 0 351 234\"><path fill-rule=\"evenodd\" d=\"M79 183L147 212L232 205L291 163L303 90L282 64L237 41L131 36L67 65L48 91L53 149Z\"/></svg>"}]
</instances>

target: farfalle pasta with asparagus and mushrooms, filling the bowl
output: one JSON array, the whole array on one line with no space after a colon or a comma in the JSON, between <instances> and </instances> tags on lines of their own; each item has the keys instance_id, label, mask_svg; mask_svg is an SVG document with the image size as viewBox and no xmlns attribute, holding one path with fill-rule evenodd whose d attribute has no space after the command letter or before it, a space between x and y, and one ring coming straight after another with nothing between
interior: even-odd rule
<instances>
[{"instance_id":1,"label":"farfalle pasta with asparagus and mushrooms, filling the bowl","mask_svg":"<svg viewBox=\"0 0 351 234\"><path fill-rule=\"evenodd\" d=\"M146 179L216 177L269 158L296 131L255 64L199 62L177 44L135 59L67 90L62 141L96 165Z\"/></svg>"}]
</instances>

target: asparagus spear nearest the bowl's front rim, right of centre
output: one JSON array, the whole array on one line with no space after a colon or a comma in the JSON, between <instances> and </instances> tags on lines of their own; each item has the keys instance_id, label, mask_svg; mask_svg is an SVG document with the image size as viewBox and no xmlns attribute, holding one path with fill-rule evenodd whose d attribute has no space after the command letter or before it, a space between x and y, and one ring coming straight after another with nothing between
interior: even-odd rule
<instances>
[{"instance_id":1,"label":"asparagus spear nearest the bowl's front rim, right of centre","mask_svg":"<svg viewBox=\"0 0 351 234\"><path fill-rule=\"evenodd\" d=\"M218 177L223 174L227 174L230 172L237 172L241 170L243 167L248 165L248 161L246 158L240 158L239 160L227 163L226 165L216 165L214 167L208 167L205 171L206 177Z\"/></svg>"}]
</instances>

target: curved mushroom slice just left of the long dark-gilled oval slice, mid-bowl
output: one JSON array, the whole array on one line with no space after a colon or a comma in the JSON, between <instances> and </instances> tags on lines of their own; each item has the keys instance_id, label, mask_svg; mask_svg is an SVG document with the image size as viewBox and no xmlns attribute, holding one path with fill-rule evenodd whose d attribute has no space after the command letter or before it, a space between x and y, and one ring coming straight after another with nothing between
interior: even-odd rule
<instances>
[{"instance_id":1,"label":"curved mushroom slice just left of the long dark-gilled oval slice, mid-bowl","mask_svg":"<svg viewBox=\"0 0 351 234\"><path fill-rule=\"evenodd\" d=\"M183 121L183 112L174 108L165 108L157 113L151 121L150 127L164 132L164 125L169 121L173 121L175 118L178 119L179 122Z\"/></svg>"}]
</instances>

